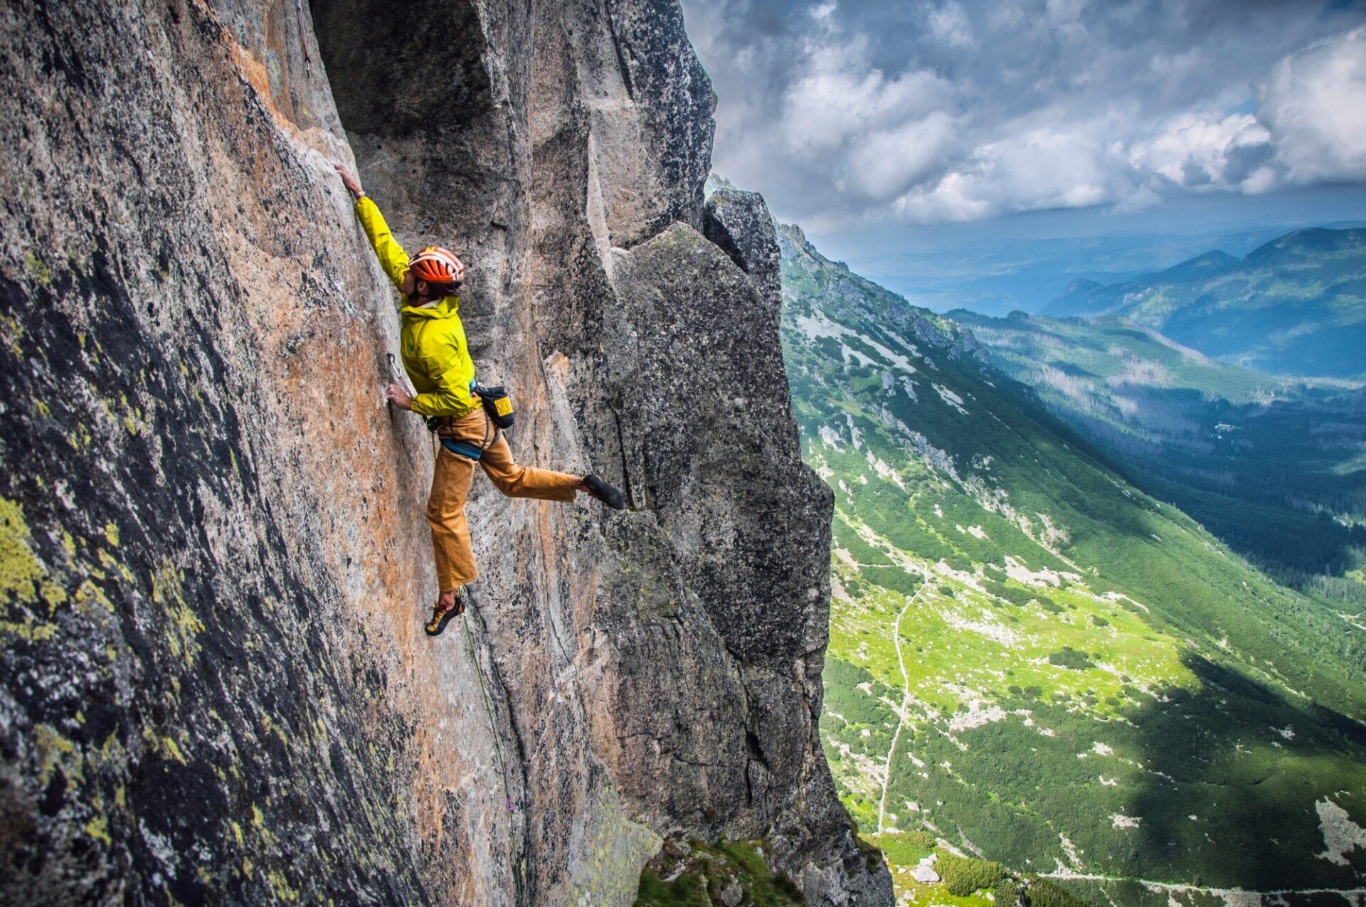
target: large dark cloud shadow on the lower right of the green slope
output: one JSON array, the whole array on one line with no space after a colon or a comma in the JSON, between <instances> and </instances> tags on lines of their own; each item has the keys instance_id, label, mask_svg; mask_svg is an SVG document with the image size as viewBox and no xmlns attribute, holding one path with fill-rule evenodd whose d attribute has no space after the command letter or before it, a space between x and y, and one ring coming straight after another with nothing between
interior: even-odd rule
<instances>
[{"instance_id":1,"label":"large dark cloud shadow on the lower right of the green slope","mask_svg":"<svg viewBox=\"0 0 1366 907\"><path fill-rule=\"evenodd\" d=\"M1127 815L1141 817L1134 856L1149 878L1254 891L1354 888L1351 866L1325 850L1315 802L1366 820L1366 727L1201 656L1184 658L1201 690L1165 691L1130 716L1145 783ZM1194 817L1194 818L1193 818Z\"/></svg>"}]
</instances>

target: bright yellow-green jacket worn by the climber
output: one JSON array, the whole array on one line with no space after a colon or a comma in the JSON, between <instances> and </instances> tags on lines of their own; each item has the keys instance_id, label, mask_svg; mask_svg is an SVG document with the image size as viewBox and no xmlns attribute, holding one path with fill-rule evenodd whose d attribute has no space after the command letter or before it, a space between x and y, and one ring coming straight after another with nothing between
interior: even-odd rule
<instances>
[{"instance_id":1,"label":"bright yellow-green jacket worn by the climber","mask_svg":"<svg viewBox=\"0 0 1366 907\"><path fill-rule=\"evenodd\" d=\"M402 288L403 276L408 272L408 253L393 239L384 214L369 195L355 199L355 213L384 273L396 288ZM460 298L447 296L421 309L406 305L399 314L403 324L399 337L403 367L418 392L413 399L413 411L419 415L455 417L473 413L479 404L470 393L474 359L464 341Z\"/></svg>"}]
</instances>

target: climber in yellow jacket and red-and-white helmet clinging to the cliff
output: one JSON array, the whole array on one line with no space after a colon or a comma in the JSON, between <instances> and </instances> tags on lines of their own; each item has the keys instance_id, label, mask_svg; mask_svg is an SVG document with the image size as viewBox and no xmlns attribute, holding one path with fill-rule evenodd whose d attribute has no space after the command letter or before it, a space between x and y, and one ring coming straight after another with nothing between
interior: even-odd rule
<instances>
[{"instance_id":1,"label":"climber in yellow jacket and red-and-white helmet clinging to the cliff","mask_svg":"<svg viewBox=\"0 0 1366 907\"><path fill-rule=\"evenodd\" d=\"M575 492L585 492L613 510L622 510L626 503L622 492L591 473L570 475L518 466L512 460L507 438L474 392L474 362L464 341L460 296L456 295L464 281L464 265L438 246L426 246L410 257L355 176L340 164L333 167L355 198L355 213L380 266L403 294L399 343L403 367L418 393L408 396L404 388L389 384L384 396L403 410L428 417L429 428L441 440L426 508L440 585L426 632L436 637L452 617L464 612L466 586L478 575L464 516L475 463L508 497L572 501Z\"/></svg>"}]
</instances>

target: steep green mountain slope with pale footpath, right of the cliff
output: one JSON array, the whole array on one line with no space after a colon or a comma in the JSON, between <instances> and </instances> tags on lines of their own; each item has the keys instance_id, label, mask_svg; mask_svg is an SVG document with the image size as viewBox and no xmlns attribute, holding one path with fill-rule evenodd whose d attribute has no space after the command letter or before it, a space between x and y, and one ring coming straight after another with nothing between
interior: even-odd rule
<instances>
[{"instance_id":1,"label":"steep green mountain slope with pale footpath, right of the cliff","mask_svg":"<svg viewBox=\"0 0 1366 907\"><path fill-rule=\"evenodd\" d=\"M1359 885L1366 626L1126 485L956 325L780 242L836 493L822 736L902 896L974 900L911 880L915 832L1097 903Z\"/></svg>"}]
</instances>

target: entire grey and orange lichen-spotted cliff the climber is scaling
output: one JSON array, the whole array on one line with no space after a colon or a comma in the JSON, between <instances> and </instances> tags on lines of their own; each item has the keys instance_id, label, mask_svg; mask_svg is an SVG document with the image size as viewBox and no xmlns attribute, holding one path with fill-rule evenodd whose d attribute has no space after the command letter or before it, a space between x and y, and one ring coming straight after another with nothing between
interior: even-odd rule
<instances>
[{"instance_id":1,"label":"entire grey and orange lichen-spotted cliff the climber is scaling","mask_svg":"<svg viewBox=\"0 0 1366 907\"><path fill-rule=\"evenodd\" d=\"M772 238L699 232L673 3L20 0L0 49L5 900L630 903L682 832L889 902L817 743L829 493L736 264ZM634 505L477 481L437 641L332 160L470 265L516 455Z\"/></svg>"}]
</instances>

